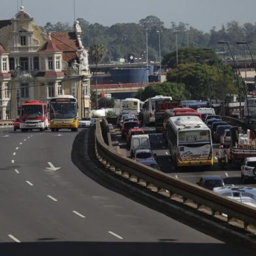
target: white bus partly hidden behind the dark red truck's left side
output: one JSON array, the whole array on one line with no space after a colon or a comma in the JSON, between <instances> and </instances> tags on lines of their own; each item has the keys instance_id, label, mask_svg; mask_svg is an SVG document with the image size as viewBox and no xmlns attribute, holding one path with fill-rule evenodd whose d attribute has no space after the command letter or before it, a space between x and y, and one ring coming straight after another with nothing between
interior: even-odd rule
<instances>
[{"instance_id":1,"label":"white bus partly hidden behind the dark red truck's left side","mask_svg":"<svg viewBox=\"0 0 256 256\"><path fill-rule=\"evenodd\" d=\"M172 97L162 95L156 95L155 97L146 99L142 108L144 125L150 126L155 124L155 103L157 101L163 101L167 99L172 101Z\"/></svg>"}]
</instances>

